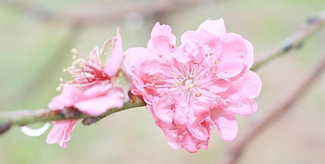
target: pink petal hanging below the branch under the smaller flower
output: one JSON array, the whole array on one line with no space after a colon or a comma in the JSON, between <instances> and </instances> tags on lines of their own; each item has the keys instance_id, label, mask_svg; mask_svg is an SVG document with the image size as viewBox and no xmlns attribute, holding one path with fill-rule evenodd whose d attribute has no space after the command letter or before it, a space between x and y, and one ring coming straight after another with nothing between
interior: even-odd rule
<instances>
[{"instance_id":1,"label":"pink petal hanging below the branch under the smaller flower","mask_svg":"<svg viewBox=\"0 0 325 164\"><path fill-rule=\"evenodd\" d=\"M72 130L75 128L77 120L52 121L53 128L47 136L46 143L58 143L62 148L66 148L71 139Z\"/></svg>"}]
</instances>

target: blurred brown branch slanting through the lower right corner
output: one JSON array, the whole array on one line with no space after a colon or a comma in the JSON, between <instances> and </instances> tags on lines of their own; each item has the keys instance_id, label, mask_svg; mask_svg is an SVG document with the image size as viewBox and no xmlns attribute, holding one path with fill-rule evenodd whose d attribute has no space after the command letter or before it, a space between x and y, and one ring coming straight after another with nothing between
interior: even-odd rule
<instances>
[{"instance_id":1,"label":"blurred brown branch slanting through the lower right corner","mask_svg":"<svg viewBox=\"0 0 325 164\"><path fill-rule=\"evenodd\" d=\"M325 56L325 54L324 54ZM280 106L272 109L272 113L267 115L264 119L256 123L256 126L251 129L243 138L238 139L235 145L231 147L229 157L224 162L225 164L235 164L240 158L245 148L259 135L268 128L272 123L279 119L285 112L300 99L307 89L320 77L325 69L325 57L320 64L310 73L306 80L298 86L298 88L286 99Z\"/></svg>"}]
</instances>

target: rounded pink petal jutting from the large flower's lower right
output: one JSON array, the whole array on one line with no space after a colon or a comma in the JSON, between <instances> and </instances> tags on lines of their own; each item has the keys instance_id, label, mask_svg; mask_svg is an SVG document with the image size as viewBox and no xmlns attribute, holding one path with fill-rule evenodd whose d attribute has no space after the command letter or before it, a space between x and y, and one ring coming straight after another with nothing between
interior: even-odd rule
<instances>
[{"instance_id":1,"label":"rounded pink petal jutting from the large flower's lower right","mask_svg":"<svg viewBox=\"0 0 325 164\"><path fill-rule=\"evenodd\" d=\"M232 113L226 113L223 109L213 109L211 119L218 127L224 141L233 141L237 138L238 123Z\"/></svg>"}]
</instances>

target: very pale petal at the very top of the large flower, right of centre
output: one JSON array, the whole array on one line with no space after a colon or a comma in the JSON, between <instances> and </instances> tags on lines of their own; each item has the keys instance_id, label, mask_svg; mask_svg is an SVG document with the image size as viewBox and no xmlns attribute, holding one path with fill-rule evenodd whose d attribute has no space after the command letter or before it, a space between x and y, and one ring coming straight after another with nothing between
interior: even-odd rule
<instances>
[{"instance_id":1,"label":"very pale petal at the very top of the large flower, right of centre","mask_svg":"<svg viewBox=\"0 0 325 164\"><path fill-rule=\"evenodd\" d=\"M216 37L225 34L226 32L224 26L224 20L222 18L217 20L206 20L199 26L198 31L201 30L206 30Z\"/></svg>"}]
</instances>

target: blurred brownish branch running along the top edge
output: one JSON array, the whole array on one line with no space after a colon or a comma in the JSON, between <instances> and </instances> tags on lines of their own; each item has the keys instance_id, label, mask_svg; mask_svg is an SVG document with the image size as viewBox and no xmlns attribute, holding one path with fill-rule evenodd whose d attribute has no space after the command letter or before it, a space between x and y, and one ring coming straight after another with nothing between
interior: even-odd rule
<instances>
[{"instance_id":1,"label":"blurred brownish branch running along the top edge","mask_svg":"<svg viewBox=\"0 0 325 164\"><path fill-rule=\"evenodd\" d=\"M55 13L36 4L21 0L0 0L4 5L15 9L32 19L53 24L82 23L84 25L110 24L123 18L130 12L137 12L145 18L152 18L179 11L197 4L196 0L160 0L116 4L98 9L83 10L80 13Z\"/></svg>"}]
</instances>

